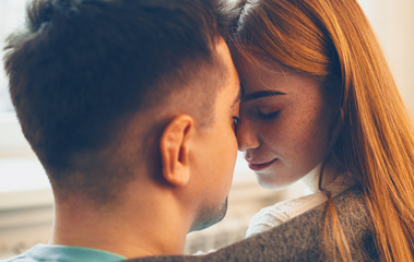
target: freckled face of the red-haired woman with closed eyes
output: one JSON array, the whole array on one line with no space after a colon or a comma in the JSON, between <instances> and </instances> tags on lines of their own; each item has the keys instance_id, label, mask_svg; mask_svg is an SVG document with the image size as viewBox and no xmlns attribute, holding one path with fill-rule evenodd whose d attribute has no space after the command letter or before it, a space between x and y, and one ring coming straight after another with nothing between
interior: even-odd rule
<instances>
[{"instance_id":1,"label":"freckled face of the red-haired woman with closed eyes","mask_svg":"<svg viewBox=\"0 0 414 262\"><path fill-rule=\"evenodd\" d=\"M323 160L332 108L312 78L241 56L235 64L244 88L239 150L262 187L287 187Z\"/></svg>"}]
</instances>

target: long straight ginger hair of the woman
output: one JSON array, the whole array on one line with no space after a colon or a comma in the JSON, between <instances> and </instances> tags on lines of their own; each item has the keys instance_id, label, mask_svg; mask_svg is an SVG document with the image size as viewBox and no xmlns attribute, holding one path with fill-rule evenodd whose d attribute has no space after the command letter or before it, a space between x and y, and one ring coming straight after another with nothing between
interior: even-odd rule
<instances>
[{"instance_id":1,"label":"long straight ginger hair of the woman","mask_svg":"<svg viewBox=\"0 0 414 262\"><path fill-rule=\"evenodd\" d=\"M357 1L245 0L238 7L229 34L235 51L324 79L323 94L338 105L332 128L342 127L328 158L340 160L363 189L380 259L413 261L413 122ZM351 261L328 200L331 248Z\"/></svg>"}]
</instances>

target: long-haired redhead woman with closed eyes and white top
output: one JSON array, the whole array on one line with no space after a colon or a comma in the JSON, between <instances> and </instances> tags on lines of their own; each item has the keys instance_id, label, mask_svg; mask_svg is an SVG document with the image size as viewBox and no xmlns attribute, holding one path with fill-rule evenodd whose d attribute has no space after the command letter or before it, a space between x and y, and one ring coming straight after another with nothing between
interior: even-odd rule
<instances>
[{"instance_id":1,"label":"long-haired redhead woman with closed eyes and white top","mask_svg":"<svg viewBox=\"0 0 414 262\"><path fill-rule=\"evenodd\" d=\"M316 192L264 209L248 236L326 202L326 248L351 261L332 198L360 191L380 260L413 261L413 123L356 0L244 1L229 44L239 148L259 183L304 178Z\"/></svg>"}]
</instances>

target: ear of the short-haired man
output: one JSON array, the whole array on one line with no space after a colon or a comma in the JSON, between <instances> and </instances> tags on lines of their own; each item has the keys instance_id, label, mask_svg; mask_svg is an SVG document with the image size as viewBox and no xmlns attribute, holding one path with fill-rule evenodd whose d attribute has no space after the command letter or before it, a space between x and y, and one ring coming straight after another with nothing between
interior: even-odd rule
<instances>
[{"instance_id":1,"label":"ear of the short-haired man","mask_svg":"<svg viewBox=\"0 0 414 262\"><path fill-rule=\"evenodd\" d=\"M190 179L188 139L193 127L194 121L190 116L179 115L168 123L159 141L163 176L176 187L187 184Z\"/></svg>"}]
</instances>

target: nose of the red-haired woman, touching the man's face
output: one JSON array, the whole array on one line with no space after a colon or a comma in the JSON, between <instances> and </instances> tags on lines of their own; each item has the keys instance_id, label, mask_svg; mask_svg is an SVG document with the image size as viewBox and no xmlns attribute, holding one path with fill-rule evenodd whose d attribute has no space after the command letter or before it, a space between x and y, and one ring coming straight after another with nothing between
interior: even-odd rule
<instances>
[{"instance_id":1,"label":"nose of the red-haired woman, touching the man's face","mask_svg":"<svg viewBox=\"0 0 414 262\"><path fill-rule=\"evenodd\" d=\"M237 124L237 142L238 150L241 152L260 146L260 141L252 122L243 118L240 119L240 122Z\"/></svg>"}]
</instances>

